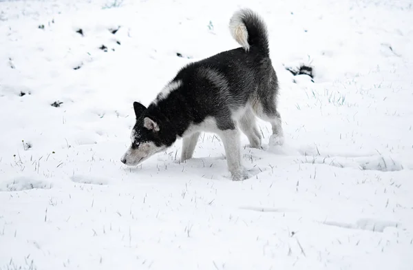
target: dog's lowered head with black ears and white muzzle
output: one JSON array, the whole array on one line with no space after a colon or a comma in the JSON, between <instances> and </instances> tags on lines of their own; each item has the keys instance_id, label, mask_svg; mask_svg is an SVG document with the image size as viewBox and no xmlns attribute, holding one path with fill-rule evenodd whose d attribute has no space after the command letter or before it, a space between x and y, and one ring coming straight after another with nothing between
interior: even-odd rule
<instances>
[{"instance_id":1,"label":"dog's lowered head with black ears and white muzzle","mask_svg":"<svg viewBox=\"0 0 413 270\"><path fill-rule=\"evenodd\" d=\"M134 102L134 110L136 124L131 132L131 145L120 158L122 163L129 166L142 163L153 154L167 149L176 140L171 137L167 125L162 125L158 123L159 120L154 121L153 117L149 116L144 105Z\"/></svg>"}]
</instances>

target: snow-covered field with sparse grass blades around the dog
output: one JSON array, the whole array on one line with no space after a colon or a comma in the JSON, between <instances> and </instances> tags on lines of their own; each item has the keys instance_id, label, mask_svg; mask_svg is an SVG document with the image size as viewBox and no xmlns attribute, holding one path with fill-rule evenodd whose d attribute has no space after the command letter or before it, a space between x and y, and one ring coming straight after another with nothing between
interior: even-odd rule
<instances>
[{"instance_id":1,"label":"snow-covered field with sparse grass blades around the dog","mask_svg":"<svg viewBox=\"0 0 413 270\"><path fill-rule=\"evenodd\" d=\"M125 167L133 101L236 48L240 7L268 24L286 145L242 135L242 182L213 134ZM412 74L408 0L0 0L0 269L412 270Z\"/></svg>"}]
</instances>

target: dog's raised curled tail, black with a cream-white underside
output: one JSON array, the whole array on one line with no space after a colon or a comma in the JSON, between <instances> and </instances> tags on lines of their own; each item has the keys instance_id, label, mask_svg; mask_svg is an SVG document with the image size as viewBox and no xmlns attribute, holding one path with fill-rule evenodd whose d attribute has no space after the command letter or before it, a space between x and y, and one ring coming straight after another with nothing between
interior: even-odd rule
<instances>
[{"instance_id":1,"label":"dog's raised curled tail, black with a cream-white underside","mask_svg":"<svg viewBox=\"0 0 413 270\"><path fill-rule=\"evenodd\" d=\"M248 52L258 50L268 56L268 33L260 15L249 8L237 10L229 20L229 30L237 43Z\"/></svg>"}]
</instances>

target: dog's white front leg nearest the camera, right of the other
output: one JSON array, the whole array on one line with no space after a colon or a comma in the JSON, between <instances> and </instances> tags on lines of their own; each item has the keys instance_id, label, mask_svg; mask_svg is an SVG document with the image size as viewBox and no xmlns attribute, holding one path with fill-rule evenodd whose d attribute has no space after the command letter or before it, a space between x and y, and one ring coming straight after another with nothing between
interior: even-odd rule
<instances>
[{"instance_id":1,"label":"dog's white front leg nearest the camera, right of the other","mask_svg":"<svg viewBox=\"0 0 413 270\"><path fill-rule=\"evenodd\" d=\"M241 164L240 132L238 129L226 129L219 135L224 143L226 163L232 179L239 181L248 178L246 169Z\"/></svg>"}]
</instances>

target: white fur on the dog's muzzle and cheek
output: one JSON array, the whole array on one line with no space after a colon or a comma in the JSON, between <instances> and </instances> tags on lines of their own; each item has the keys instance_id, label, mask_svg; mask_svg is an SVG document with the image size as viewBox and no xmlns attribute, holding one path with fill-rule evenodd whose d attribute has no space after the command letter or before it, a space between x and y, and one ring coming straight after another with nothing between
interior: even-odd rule
<instances>
[{"instance_id":1,"label":"white fur on the dog's muzzle and cheek","mask_svg":"<svg viewBox=\"0 0 413 270\"><path fill-rule=\"evenodd\" d=\"M125 165L138 165L154 154L161 152L163 149L167 148L162 146L158 147L151 141L140 142L139 138L139 134L136 133L135 129L132 129L131 145L129 146L125 154L123 154L122 158L120 158L120 160L122 160Z\"/></svg>"}]
</instances>

